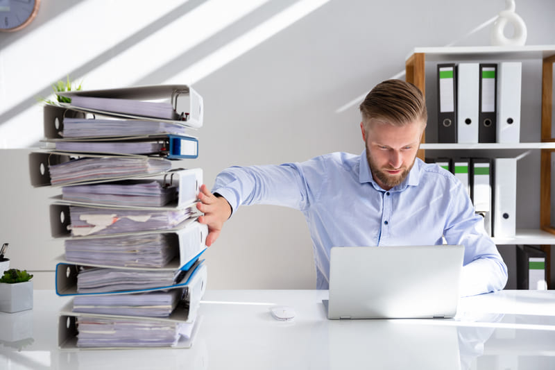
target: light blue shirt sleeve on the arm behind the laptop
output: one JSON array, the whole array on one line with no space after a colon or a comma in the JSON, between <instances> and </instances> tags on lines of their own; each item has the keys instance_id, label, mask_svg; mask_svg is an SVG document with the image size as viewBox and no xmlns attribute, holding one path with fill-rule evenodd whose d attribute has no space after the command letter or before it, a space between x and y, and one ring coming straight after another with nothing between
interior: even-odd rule
<instances>
[{"instance_id":1,"label":"light blue shirt sleeve on the arm behind the laptop","mask_svg":"<svg viewBox=\"0 0 555 370\"><path fill-rule=\"evenodd\" d=\"M497 246L484 230L484 219L476 215L463 187L452 192L444 236L447 244L465 247L461 274L461 296L473 296L503 289L507 267Z\"/></svg>"}]
</instances>

